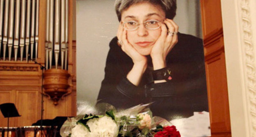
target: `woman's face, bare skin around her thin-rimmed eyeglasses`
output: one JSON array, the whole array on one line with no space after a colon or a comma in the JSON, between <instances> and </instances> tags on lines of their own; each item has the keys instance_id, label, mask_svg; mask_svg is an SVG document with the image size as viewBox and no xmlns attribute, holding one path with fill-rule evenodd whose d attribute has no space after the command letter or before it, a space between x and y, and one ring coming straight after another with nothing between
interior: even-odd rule
<instances>
[{"instance_id":1,"label":"woman's face, bare skin around her thin-rimmed eyeglasses","mask_svg":"<svg viewBox=\"0 0 256 137\"><path fill-rule=\"evenodd\" d=\"M160 28L146 29L142 23L147 20L162 22L164 19L165 12L161 7L154 6L149 2L134 4L121 13L122 22L135 21L140 23L138 29L127 31L127 40L142 55L151 53L151 49L161 34Z\"/></svg>"}]
</instances>

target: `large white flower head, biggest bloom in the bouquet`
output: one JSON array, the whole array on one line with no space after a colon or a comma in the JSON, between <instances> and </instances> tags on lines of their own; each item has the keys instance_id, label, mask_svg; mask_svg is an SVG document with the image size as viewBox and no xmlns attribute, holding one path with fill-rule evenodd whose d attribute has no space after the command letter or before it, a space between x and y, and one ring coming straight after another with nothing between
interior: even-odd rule
<instances>
[{"instance_id":1,"label":"large white flower head, biggest bloom in the bouquet","mask_svg":"<svg viewBox=\"0 0 256 137\"><path fill-rule=\"evenodd\" d=\"M108 116L90 119L87 122L91 133L89 137L117 137L118 126L116 122Z\"/></svg>"}]
</instances>

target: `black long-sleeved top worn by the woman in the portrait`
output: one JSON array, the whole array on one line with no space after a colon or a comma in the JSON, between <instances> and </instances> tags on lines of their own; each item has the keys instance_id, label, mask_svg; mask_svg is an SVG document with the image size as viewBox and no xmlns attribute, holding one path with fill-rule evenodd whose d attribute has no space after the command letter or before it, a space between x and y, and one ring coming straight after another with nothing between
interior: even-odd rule
<instances>
[{"instance_id":1,"label":"black long-sleeved top worn by the woman in the portrait","mask_svg":"<svg viewBox=\"0 0 256 137\"><path fill-rule=\"evenodd\" d=\"M129 108L140 103L151 104L153 115L171 120L190 117L193 112L208 111L206 76L202 40L178 33L178 43L166 58L171 69L170 82L154 84L151 57L139 86L133 85L126 75L133 67L132 59L117 45L110 42L105 78L101 83L98 103L105 102L116 108Z\"/></svg>"}]
</instances>

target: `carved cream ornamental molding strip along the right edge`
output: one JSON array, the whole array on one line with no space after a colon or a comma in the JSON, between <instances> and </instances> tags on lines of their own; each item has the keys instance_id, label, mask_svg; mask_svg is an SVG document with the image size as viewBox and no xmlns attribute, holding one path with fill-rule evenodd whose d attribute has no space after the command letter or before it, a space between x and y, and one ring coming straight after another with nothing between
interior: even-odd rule
<instances>
[{"instance_id":1,"label":"carved cream ornamental molding strip along the right edge","mask_svg":"<svg viewBox=\"0 0 256 137\"><path fill-rule=\"evenodd\" d=\"M250 0L240 0L241 10L241 27L242 27L242 45L244 48L243 58L245 60L245 87L249 99L249 121L251 122L251 137L256 137L256 66L255 66L255 49L253 44L253 33L251 23L251 11L249 7Z\"/></svg>"}]
</instances>

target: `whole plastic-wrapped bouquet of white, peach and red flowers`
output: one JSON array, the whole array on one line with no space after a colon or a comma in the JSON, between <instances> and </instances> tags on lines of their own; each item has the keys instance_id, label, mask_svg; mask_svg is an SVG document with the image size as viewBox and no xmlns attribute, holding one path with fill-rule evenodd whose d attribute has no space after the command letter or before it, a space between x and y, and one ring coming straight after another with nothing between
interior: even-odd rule
<instances>
[{"instance_id":1,"label":"whole plastic-wrapped bouquet of white, peach and red flowers","mask_svg":"<svg viewBox=\"0 0 256 137\"><path fill-rule=\"evenodd\" d=\"M181 137L170 122L152 117L149 104L119 112L110 104L99 106L98 115L68 118L60 129L62 137Z\"/></svg>"}]
</instances>

